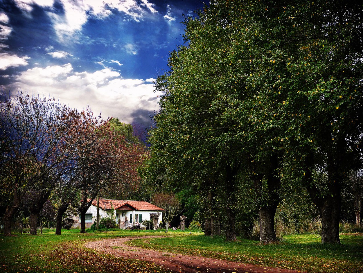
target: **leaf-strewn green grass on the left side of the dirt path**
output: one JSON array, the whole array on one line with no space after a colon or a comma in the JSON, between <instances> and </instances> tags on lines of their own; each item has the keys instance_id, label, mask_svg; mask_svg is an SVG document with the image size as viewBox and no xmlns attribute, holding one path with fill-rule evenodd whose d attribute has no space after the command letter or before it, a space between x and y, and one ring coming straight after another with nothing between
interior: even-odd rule
<instances>
[{"instance_id":1,"label":"leaf-strewn green grass on the left side of the dirt path","mask_svg":"<svg viewBox=\"0 0 363 273\"><path fill-rule=\"evenodd\" d=\"M165 272L160 266L149 262L114 258L83 248L90 240L102 240L121 236L161 235L162 232L147 231L90 231L81 234L79 229L43 230L42 235L13 233L0 235L0 272ZM164 233L163 233L164 234Z\"/></svg>"}]
</instances>

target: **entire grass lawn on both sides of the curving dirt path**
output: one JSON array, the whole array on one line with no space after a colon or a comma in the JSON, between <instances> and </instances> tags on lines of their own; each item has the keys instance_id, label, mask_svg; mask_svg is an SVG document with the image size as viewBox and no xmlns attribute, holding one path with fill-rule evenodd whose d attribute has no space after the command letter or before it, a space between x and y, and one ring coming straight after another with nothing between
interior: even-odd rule
<instances>
[{"instance_id":1,"label":"entire grass lawn on both sides of the curving dirt path","mask_svg":"<svg viewBox=\"0 0 363 273\"><path fill-rule=\"evenodd\" d=\"M149 262L118 259L96 254L82 245L89 240L121 236L167 235L164 238L137 239L130 244L168 252L222 258L237 262L285 267L304 272L363 272L363 234L341 235L343 245L322 245L314 235L286 236L279 244L261 245L257 241L204 237L202 233L181 231L88 232L78 229L54 230L43 235L14 233L0 235L0 272L165 272Z\"/></svg>"}]
</instances>

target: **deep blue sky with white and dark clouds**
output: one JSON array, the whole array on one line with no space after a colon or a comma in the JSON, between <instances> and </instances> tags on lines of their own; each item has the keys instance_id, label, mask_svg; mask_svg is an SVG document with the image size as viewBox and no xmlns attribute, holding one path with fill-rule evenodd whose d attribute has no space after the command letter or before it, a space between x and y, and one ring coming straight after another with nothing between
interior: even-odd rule
<instances>
[{"instance_id":1,"label":"deep blue sky with white and dark clouds","mask_svg":"<svg viewBox=\"0 0 363 273\"><path fill-rule=\"evenodd\" d=\"M150 126L153 81L200 0L0 0L0 88Z\"/></svg>"}]
</instances>

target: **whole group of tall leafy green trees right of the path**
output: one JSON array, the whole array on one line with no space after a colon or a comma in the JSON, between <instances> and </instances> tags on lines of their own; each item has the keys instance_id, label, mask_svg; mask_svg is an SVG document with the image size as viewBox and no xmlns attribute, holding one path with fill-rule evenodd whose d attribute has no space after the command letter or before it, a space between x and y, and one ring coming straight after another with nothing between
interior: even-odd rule
<instances>
[{"instance_id":1,"label":"whole group of tall leafy green trees right of the path","mask_svg":"<svg viewBox=\"0 0 363 273\"><path fill-rule=\"evenodd\" d=\"M323 0L212 1L186 18L156 80L151 169L218 188L227 234L238 185L251 185L261 241L276 240L281 186L305 187L322 242L339 243L340 190L362 155L362 20L355 1Z\"/></svg>"}]
</instances>

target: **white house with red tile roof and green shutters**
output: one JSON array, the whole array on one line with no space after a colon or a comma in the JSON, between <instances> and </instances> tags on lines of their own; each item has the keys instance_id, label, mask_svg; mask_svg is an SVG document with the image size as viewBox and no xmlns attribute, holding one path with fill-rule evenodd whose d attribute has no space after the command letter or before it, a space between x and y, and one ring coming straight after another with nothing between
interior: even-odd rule
<instances>
[{"instance_id":1,"label":"white house with red tile roof and green shutters","mask_svg":"<svg viewBox=\"0 0 363 273\"><path fill-rule=\"evenodd\" d=\"M119 228L126 228L127 225L133 226L141 224L143 220L150 220L150 213L160 212L158 223L162 221L163 211L165 209L159 208L146 201L133 201L133 200L115 200L115 199L99 199L98 201L98 217L113 216ZM97 199L92 201L92 205L86 212L85 225L90 228L92 224L96 223L97 217ZM73 227L81 225L80 215L75 217Z\"/></svg>"}]
</instances>

